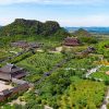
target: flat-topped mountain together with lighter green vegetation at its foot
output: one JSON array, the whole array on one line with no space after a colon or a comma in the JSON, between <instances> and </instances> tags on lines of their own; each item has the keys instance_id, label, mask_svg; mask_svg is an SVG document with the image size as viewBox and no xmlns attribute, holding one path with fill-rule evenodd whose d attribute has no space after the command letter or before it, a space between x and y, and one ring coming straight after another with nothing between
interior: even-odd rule
<instances>
[{"instance_id":1,"label":"flat-topped mountain together with lighter green vegetation at its foot","mask_svg":"<svg viewBox=\"0 0 109 109\"><path fill-rule=\"evenodd\" d=\"M60 44L68 35L69 33L55 21L43 23L16 19L13 23L0 28L0 47L9 48L11 43L17 40L38 41L51 47Z\"/></svg>"}]
</instances>

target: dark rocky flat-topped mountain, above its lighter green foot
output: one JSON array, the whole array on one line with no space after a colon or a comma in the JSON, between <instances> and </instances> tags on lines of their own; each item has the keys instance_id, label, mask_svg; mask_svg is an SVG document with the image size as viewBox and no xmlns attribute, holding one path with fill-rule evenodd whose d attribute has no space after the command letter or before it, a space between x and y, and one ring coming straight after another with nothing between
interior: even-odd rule
<instances>
[{"instance_id":1,"label":"dark rocky flat-topped mountain, above its lighter green foot","mask_svg":"<svg viewBox=\"0 0 109 109\"><path fill-rule=\"evenodd\" d=\"M13 23L0 28L0 36L14 35L43 35L49 36L62 29L59 23L47 21L45 23L35 20L16 19Z\"/></svg>"}]
</instances>

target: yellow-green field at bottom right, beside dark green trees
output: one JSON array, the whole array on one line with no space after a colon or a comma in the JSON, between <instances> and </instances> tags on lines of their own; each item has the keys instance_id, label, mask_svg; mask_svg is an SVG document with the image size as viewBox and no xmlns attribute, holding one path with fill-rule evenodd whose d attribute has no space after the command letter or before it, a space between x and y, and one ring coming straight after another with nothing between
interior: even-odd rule
<instances>
[{"instance_id":1,"label":"yellow-green field at bottom right, beside dark green trees","mask_svg":"<svg viewBox=\"0 0 109 109\"><path fill-rule=\"evenodd\" d=\"M105 89L102 83L72 77L72 84L61 97L60 109L98 109Z\"/></svg>"}]
</instances>

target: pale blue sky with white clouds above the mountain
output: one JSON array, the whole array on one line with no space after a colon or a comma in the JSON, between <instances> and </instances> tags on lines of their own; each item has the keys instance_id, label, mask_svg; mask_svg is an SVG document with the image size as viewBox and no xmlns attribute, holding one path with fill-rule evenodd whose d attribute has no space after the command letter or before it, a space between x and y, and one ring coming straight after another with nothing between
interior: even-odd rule
<instances>
[{"instance_id":1,"label":"pale blue sky with white clouds above the mountain","mask_svg":"<svg viewBox=\"0 0 109 109\"><path fill-rule=\"evenodd\" d=\"M0 0L0 25L15 19L57 21L61 26L109 27L109 0Z\"/></svg>"}]
</instances>

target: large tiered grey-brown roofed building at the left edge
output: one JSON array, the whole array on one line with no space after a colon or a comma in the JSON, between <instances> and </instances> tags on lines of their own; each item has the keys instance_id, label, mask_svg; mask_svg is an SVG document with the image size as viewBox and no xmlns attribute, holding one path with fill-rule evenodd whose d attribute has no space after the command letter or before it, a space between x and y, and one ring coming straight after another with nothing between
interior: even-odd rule
<instances>
[{"instance_id":1,"label":"large tiered grey-brown roofed building at the left edge","mask_svg":"<svg viewBox=\"0 0 109 109\"><path fill-rule=\"evenodd\" d=\"M14 64L7 64L0 68L0 80L12 81L12 78L21 78L25 75L24 70Z\"/></svg>"}]
</instances>

